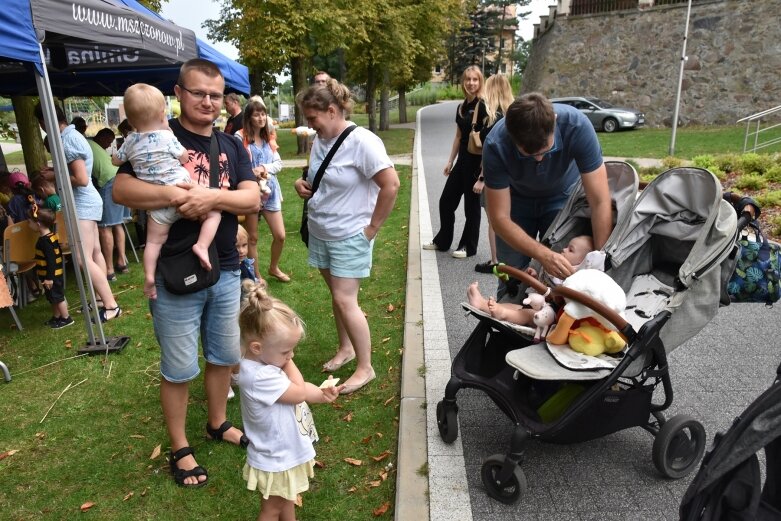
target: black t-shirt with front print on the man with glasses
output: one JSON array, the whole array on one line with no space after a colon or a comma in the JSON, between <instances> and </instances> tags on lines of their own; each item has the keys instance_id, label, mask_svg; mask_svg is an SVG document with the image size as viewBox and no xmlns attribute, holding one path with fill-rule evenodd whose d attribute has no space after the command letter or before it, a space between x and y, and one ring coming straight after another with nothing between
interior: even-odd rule
<instances>
[{"instance_id":1,"label":"black t-shirt with front print on the man with glasses","mask_svg":"<svg viewBox=\"0 0 781 521\"><path fill-rule=\"evenodd\" d=\"M192 179L193 183L208 187L209 145L211 138L193 134L182 127L178 119L172 119L168 124L179 142L190 154L190 161L184 165L190 172L190 179ZM216 129L214 131L217 133L217 142L220 147L220 188L222 190L236 190L237 185L241 181L255 181L249 155L241 142L224 132ZM122 165L118 173L135 175L130 163ZM199 226L199 221L179 219L171 226L168 240L177 239L188 232L192 232L194 227ZM220 269L222 270L239 269L239 254L236 250L237 228L238 219L236 216L229 212L222 212L220 227L217 229L217 235L214 239L217 243L217 254L220 258Z\"/></svg>"}]
</instances>

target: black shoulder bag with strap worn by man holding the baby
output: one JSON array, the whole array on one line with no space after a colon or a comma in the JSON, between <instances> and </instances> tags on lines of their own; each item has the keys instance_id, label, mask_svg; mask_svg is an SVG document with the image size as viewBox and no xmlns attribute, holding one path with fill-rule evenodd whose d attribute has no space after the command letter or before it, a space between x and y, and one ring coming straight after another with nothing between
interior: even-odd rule
<instances>
[{"instance_id":1,"label":"black shoulder bag with strap worn by man holding the baby","mask_svg":"<svg viewBox=\"0 0 781 521\"><path fill-rule=\"evenodd\" d=\"M212 132L209 143L209 188L220 187L220 146L217 134ZM157 271L163 277L165 289L174 295L186 295L217 284L220 280L220 258L217 255L217 241L209 245L211 270L205 270L201 261L193 253L193 245L198 242L200 226L177 239L169 239L160 250L157 259Z\"/></svg>"}]
</instances>

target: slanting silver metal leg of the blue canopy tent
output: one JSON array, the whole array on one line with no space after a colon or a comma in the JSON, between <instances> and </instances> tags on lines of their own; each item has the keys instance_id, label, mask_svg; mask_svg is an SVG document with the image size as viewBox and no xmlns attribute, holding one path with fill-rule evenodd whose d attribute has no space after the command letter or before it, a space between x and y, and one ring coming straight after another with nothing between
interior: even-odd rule
<instances>
[{"instance_id":1,"label":"slanting silver metal leg of the blue canopy tent","mask_svg":"<svg viewBox=\"0 0 781 521\"><path fill-rule=\"evenodd\" d=\"M100 344L106 344L106 337L103 334L103 325L100 322L100 315L98 313L98 305L95 300L95 291L92 286L92 279L89 276L89 270L87 269L87 258L84 252L84 245L81 242L81 235L79 234L78 219L76 216L76 203L73 199L73 187L70 184L70 176L68 175L68 163L65 159L65 149L62 146L62 138L59 132L59 122L57 121L57 112L54 106L54 95L51 90L51 83L49 82L49 73L46 69L46 56L43 52L43 46L38 44L41 63L44 64L43 74L35 74L35 83L38 87L38 95L41 100L41 109L43 109L43 120L46 124L46 134L49 137L49 149L51 150L52 161L54 163L54 175L57 180L57 187L60 191L62 199L62 212L65 217L65 224L68 228L68 236L71 242L71 250L78 256L77 262L74 263L73 271L76 273L76 282L79 286L79 296L81 297L81 306L84 310L82 316L84 317L84 325L87 329L87 337L92 345L96 345L95 333L92 329L93 322L97 325L98 335L100 337ZM83 278L82 278L83 273ZM86 281L86 289L84 282ZM88 312L87 298L92 306L92 312ZM90 316L94 320L90 320Z\"/></svg>"}]
</instances>

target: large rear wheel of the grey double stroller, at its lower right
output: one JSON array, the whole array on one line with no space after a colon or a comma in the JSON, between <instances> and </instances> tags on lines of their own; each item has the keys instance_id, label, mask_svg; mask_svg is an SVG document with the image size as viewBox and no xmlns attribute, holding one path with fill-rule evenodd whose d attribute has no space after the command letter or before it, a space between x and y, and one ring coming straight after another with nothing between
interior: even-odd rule
<instances>
[{"instance_id":1,"label":"large rear wheel of the grey double stroller, at its lower right","mask_svg":"<svg viewBox=\"0 0 781 521\"><path fill-rule=\"evenodd\" d=\"M685 414L673 416L654 439L653 461L665 477L679 479L699 464L705 452L705 427Z\"/></svg>"}]
</instances>

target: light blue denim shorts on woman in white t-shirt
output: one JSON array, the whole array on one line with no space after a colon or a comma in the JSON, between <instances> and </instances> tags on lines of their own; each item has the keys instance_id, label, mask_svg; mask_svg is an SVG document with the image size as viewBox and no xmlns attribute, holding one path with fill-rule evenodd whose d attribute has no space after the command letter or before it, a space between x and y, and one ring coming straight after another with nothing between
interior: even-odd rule
<instances>
[{"instance_id":1,"label":"light blue denim shorts on woman in white t-shirt","mask_svg":"<svg viewBox=\"0 0 781 521\"><path fill-rule=\"evenodd\" d=\"M363 230L340 241L321 241L309 236L309 265L317 269L327 269L331 275L343 279L364 279L371 274L371 241Z\"/></svg>"}]
</instances>

